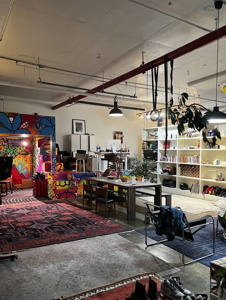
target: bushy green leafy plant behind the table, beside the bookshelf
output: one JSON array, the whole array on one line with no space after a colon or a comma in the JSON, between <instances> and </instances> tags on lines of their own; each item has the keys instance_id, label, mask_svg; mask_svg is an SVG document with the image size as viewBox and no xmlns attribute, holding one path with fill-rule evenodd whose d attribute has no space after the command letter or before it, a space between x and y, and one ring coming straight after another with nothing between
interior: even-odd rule
<instances>
[{"instance_id":1,"label":"bushy green leafy plant behind the table, beside the bookshelf","mask_svg":"<svg viewBox=\"0 0 226 300\"><path fill-rule=\"evenodd\" d=\"M134 166L132 169L132 174L134 174L139 181L146 177L148 178L153 172L153 168L150 167L150 165L153 163L155 163L155 161L142 159L140 155L134 154Z\"/></svg>"}]
</instances>

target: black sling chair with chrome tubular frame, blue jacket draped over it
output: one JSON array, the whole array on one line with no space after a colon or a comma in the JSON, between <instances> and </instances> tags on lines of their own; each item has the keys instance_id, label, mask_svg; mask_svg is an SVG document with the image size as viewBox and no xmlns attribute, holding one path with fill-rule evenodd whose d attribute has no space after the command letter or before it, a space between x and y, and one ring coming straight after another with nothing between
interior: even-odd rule
<instances>
[{"instance_id":1,"label":"black sling chair with chrome tubular frame, blue jacket draped over it","mask_svg":"<svg viewBox=\"0 0 226 300\"><path fill-rule=\"evenodd\" d=\"M156 227L157 226L157 218L158 218L158 214L159 214L159 210L152 211L150 206L154 206L154 207L157 207L157 208L160 208L160 206L154 205L154 204L149 203L147 201L143 201L143 203L146 204L146 206L148 208L148 210L145 213L145 220L144 220L145 221L144 223L145 223L145 244L146 244L146 246L150 247L150 246L161 244L162 242L166 242L167 239L165 239L163 241L160 241L160 242L154 242L154 243L151 243L151 244L147 243L147 223L149 224L149 222L147 222L147 220L150 218L151 222ZM175 207L175 208L181 210L180 207ZM196 262L200 259L212 256L215 253L214 218L211 215L206 215L204 217L188 221L184 212L183 212L183 217L185 218L186 227L184 229L180 230L180 231L175 232L175 238L174 238L174 239L182 242L182 262L183 262L183 264L184 265L189 265L192 262ZM207 222L208 219L212 219L212 220ZM212 253L208 254L208 255L205 255L203 257L197 258L197 259L193 259L190 262L185 262L185 253L184 253L185 241L194 242L194 237L193 237L194 234L196 234L202 228L205 228L205 226L211 225L211 224L212 224L212 227L213 227L213 234L212 234L212 245L213 245L212 250L213 251L212 251Z\"/></svg>"}]
</instances>

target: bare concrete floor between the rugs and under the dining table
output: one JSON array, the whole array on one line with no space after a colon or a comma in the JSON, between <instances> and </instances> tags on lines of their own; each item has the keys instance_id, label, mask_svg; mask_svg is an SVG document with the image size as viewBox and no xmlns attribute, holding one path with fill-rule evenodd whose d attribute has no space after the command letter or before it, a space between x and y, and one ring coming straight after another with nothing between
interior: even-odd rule
<instances>
[{"instance_id":1,"label":"bare concrete floor between the rugs and under the dining table","mask_svg":"<svg viewBox=\"0 0 226 300\"><path fill-rule=\"evenodd\" d=\"M124 203L120 203L120 205L116 205L116 210L108 208L107 210L107 218L112 219L115 222L119 222L120 224L123 224L125 226L129 226L131 228L134 228L133 232L129 233L122 233L119 234L120 236L126 238L127 240L133 242L135 245L141 247L142 249L145 249L151 254L154 254L158 258L161 258L165 262L168 262L172 264L173 266L180 269L177 273L173 274L173 276L181 277L181 281L184 283L184 285L191 291L194 292L194 294L197 293L205 293L210 294L210 268L203 265L199 262L194 262L190 265L183 265L182 263L182 254L165 246L165 245L156 245L151 247L146 247L145 245L145 237L143 234L137 232L137 229L144 228L144 214L147 210L146 205L142 203L143 200L139 199L140 196L136 197L136 220L134 221L127 221L127 214L126 214L126 208ZM197 199L198 201L198 199ZM74 203L81 205L81 200L73 200ZM87 206L88 207L88 206ZM98 214L101 214L104 216L104 206L98 205ZM186 213L187 218L190 219L196 219L203 215L211 214L212 216L216 217L217 212L208 212L203 214L189 214ZM153 240L148 238L147 242L150 243ZM186 258L185 262L189 262L190 258ZM163 278L169 278L170 276L163 276Z\"/></svg>"}]
</instances>

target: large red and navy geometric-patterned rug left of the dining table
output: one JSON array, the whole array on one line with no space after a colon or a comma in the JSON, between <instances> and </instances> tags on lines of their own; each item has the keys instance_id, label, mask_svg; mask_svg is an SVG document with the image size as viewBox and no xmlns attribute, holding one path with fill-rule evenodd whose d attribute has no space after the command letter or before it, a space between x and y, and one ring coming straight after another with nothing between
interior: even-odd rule
<instances>
[{"instance_id":1,"label":"large red and navy geometric-patterned rug left of the dining table","mask_svg":"<svg viewBox=\"0 0 226 300\"><path fill-rule=\"evenodd\" d=\"M2 253L131 230L67 200L1 206L0 228Z\"/></svg>"}]
</instances>

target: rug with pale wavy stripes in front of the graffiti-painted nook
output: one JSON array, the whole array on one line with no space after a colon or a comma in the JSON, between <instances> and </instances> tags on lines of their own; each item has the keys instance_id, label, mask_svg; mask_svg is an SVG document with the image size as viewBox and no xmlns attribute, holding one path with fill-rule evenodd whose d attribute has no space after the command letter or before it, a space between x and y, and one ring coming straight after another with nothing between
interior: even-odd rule
<instances>
[{"instance_id":1,"label":"rug with pale wavy stripes in front of the graffiti-painted nook","mask_svg":"<svg viewBox=\"0 0 226 300\"><path fill-rule=\"evenodd\" d=\"M13 189L13 194L8 191L8 195L3 192L2 194L2 205L18 204L18 203L28 203L37 201L49 200L45 197L35 198L33 196L32 188L24 189Z\"/></svg>"}]
</instances>

